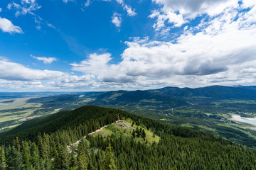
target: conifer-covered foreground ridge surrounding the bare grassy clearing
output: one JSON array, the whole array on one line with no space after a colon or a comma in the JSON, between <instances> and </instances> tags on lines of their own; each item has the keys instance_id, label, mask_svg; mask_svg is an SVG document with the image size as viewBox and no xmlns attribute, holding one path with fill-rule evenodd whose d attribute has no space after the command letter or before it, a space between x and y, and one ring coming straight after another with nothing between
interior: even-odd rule
<instances>
[{"instance_id":1,"label":"conifer-covered foreground ridge surrounding the bare grassy clearing","mask_svg":"<svg viewBox=\"0 0 256 170\"><path fill-rule=\"evenodd\" d=\"M159 142L138 142L139 135L87 135L119 119L151 130L160 137ZM78 140L81 142L69 153L67 146ZM0 142L0 169L4 170L255 169L256 165L255 149L205 132L97 106L30 120L1 134Z\"/></svg>"}]
</instances>

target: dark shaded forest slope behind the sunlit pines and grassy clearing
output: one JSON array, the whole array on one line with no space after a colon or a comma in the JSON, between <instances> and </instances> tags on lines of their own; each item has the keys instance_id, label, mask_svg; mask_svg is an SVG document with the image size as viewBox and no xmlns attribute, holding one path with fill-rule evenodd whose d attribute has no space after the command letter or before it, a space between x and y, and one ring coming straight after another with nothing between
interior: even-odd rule
<instances>
[{"instance_id":1,"label":"dark shaded forest slope behind the sunlit pines and grassy clearing","mask_svg":"<svg viewBox=\"0 0 256 170\"><path fill-rule=\"evenodd\" d=\"M97 106L84 106L74 111L60 111L46 118L28 120L18 127L0 133L0 143L11 142L14 136L21 139L34 140L38 133L51 133L58 130L73 128L75 125L102 119L100 125L117 120L117 111L112 108L99 108ZM107 118L107 120L105 120ZM104 119L104 121L103 121ZM97 125L97 127L100 127Z\"/></svg>"}]
</instances>

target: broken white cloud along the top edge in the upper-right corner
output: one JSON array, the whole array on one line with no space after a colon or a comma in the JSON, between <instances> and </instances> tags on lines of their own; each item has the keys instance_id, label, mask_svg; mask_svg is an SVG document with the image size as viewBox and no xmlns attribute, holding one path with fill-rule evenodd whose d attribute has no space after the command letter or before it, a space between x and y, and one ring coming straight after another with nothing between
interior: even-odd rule
<instances>
[{"instance_id":1,"label":"broken white cloud along the top edge in the upper-right corner","mask_svg":"<svg viewBox=\"0 0 256 170\"><path fill-rule=\"evenodd\" d=\"M188 23L198 16L207 15L210 18L220 15L229 8L237 8L238 11L242 6L255 6L256 1L252 0L152 0L158 4L160 8L152 11L149 18L156 18L154 28L156 30L170 29L171 27L181 27L184 23ZM242 2L242 6L240 6Z\"/></svg>"}]
</instances>

